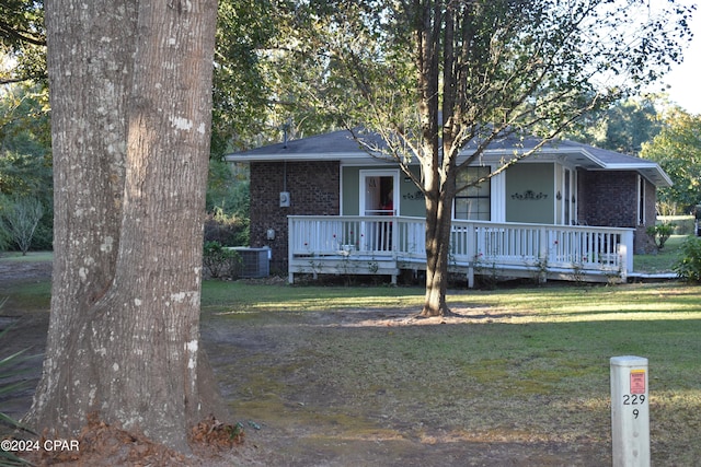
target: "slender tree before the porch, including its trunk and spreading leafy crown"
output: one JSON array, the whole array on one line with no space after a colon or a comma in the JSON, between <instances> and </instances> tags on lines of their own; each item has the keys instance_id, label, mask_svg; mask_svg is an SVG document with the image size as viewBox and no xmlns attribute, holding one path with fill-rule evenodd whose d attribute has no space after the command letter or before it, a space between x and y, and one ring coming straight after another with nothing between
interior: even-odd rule
<instances>
[{"instance_id":1,"label":"slender tree before the porch, including its trunk and spreading leafy crown","mask_svg":"<svg viewBox=\"0 0 701 467\"><path fill-rule=\"evenodd\" d=\"M643 0L310 2L322 28L308 83L320 106L395 161L426 200L424 314L445 302L458 172L509 135L555 137L637 92L681 59L688 8ZM315 30L311 30L312 32ZM532 152L532 151L531 151ZM531 152L516 152L492 177ZM410 164L421 165L415 175ZM478 184L485 178L472 180Z\"/></svg>"}]
</instances>

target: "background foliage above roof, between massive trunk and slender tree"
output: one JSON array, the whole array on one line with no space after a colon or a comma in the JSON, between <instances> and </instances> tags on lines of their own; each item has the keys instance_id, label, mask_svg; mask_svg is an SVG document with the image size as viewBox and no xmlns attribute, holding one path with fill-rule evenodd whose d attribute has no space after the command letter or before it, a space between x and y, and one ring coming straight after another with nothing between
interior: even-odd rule
<instances>
[{"instance_id":1,"label":"background foliage above roof, between massive trunk and slender tree","mask_svg":"<svg viewBox=\"0 0 701 467\"><path fill-rule=\"evenodd\" d=\"M317 105L327 73L324 2L223 0L215 67L212 156L337 128L337 114ZM347 2L348 8L354 8ZM341 13L345 13L342 10Z\"/></svg>"}]
</instances>

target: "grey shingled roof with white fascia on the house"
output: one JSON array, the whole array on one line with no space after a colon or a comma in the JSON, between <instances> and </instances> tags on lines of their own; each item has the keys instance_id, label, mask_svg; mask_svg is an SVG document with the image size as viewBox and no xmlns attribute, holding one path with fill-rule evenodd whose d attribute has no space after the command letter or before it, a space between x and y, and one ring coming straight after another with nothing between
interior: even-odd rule
<instances>
[{"instance_id":1,"label":"grey shingled roof with white fascia on the house","mask_svg":"<svg viewBox=\"0 0 701 467\"><path fill-rule=\"evenodd\" d=\"M366 133L363 138L382 145L381 139L375 133ZM514 152L524 153L533 149L540 141L536 137L520 138L512 135L493 141L484 151L483 160L502 159L503 156L513 155ZM462 153L469 155L474 148L474 143L468 143ZM575 141L549 141L533 156L539 160L558 159L566 161L570 165L587 171L636 171L658 187L671 186L671 179L656 162ZM227 154L225 159L229 162L340 161L345 164L387 163L369 156L347 130L332 131L249 151L234 152Z\"/></svg>"}]
</instances>

